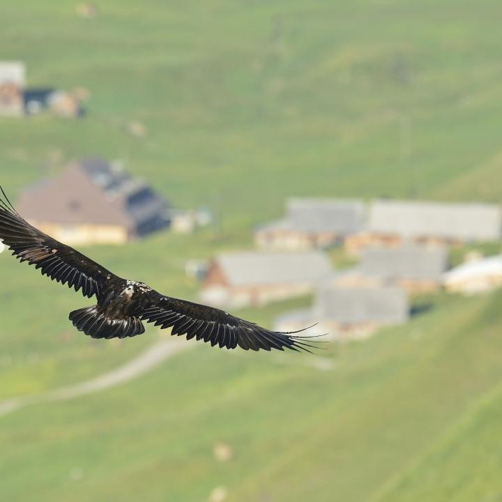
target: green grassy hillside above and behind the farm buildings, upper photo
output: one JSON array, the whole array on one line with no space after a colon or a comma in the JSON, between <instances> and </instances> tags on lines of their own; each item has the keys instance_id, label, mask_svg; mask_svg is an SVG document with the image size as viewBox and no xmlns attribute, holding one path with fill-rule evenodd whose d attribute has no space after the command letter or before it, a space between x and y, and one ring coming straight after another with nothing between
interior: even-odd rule
<instances>
[{"instance_id":1,"label":"green grassy hillside above and behind the farm buildings, upper photo","mask_svg":"<svg viewBox=\"0 0 502 502\"><path fill-rule=\"evenodd\" d=\"M0 6L1 56L29 85L91 93L81 121L0 121L12 191L94 152L233 231L292 194L502 197L495 1L75 6Z\"/></svg>"}]
</instances>

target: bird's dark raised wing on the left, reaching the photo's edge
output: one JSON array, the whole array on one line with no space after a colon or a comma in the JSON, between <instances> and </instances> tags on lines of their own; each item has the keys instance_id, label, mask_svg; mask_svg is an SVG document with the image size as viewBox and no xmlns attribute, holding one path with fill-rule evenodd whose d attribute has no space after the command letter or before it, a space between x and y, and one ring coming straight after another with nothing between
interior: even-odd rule
<instances>
[{"instance_id":1,"label":"bird's dark raised wing on the left, reaching the photo's edge","mask_svg":"<svg viewBox=\"0 0 502 502\"><path fill-rule=\"evenodd\" d=\"M28 261L40 268L43 275L75 291L82 289L84 296L99 296L112 273L84 256L61 244L30 225L15 211L5 192L0 196L0 239L20 261Z\"/></svg>"}]
</instances>

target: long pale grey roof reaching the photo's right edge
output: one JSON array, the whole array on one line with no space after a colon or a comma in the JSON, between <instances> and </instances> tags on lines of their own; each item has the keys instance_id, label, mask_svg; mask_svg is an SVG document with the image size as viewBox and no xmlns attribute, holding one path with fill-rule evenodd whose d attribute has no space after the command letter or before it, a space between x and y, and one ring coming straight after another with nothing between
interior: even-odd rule
<instances>
[{"instance_id":1,"label":"long pale grey roof reaching the photo's right edge","mask_svg":"<svg viewBox=\"0 0 502 502\"><path fill-rule=\"evenodd\" d=\"M378 200L371 206L370 231L404 238L494 241L501 238L502 212L494 204Z\"/></svg>"}]
</instances>

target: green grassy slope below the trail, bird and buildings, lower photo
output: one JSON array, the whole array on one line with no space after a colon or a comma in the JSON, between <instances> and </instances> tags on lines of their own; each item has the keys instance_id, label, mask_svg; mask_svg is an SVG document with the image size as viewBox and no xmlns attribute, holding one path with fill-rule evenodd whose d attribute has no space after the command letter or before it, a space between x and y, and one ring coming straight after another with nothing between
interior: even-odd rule
<instances>
[{"instance_id":1,"label":"green grassy slope below the trail, bird and buildings, lower photo","mask_svg":"<svg viewBox=\"0 0 502 502\"><path fill-rule=\"evenodd\" d=\"M309 355L199 347L127 386L26 408L1 422L3 496L198 501L222 485L239 502L492 500L501 301L445 298L332 347L328 371Z\"/></svg>"}]
</instances>

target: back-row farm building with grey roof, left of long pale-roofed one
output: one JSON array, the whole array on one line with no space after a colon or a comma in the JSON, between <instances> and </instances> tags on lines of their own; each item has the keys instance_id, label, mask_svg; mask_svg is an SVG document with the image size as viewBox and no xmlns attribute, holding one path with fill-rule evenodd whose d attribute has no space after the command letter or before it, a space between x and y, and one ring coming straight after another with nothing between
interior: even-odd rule
<instances>
[{"instance_id":1,"label":"back-row farm building with grey roof, left of long pale-roofed one","mask_svg":"<svg viewBox=\"0 0 502 502\"><path fill-rule=\"evenodd\" d=\"M365 227L365 204L358 200L301 199L287 201L284 219L259 227L259 248L309 250L341 242Z\"/></svg>"}]
</instances>

